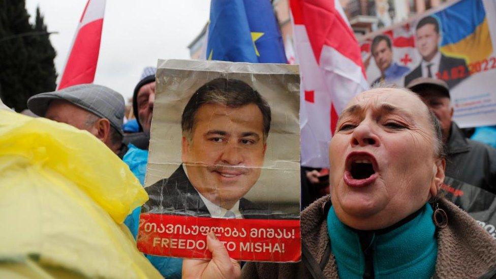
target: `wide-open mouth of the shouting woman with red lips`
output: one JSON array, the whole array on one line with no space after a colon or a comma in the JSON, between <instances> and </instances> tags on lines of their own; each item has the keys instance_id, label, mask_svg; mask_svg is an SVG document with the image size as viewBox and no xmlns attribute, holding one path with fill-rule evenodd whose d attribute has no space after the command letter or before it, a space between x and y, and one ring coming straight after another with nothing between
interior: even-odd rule
<instances>
[{"instance_id":1,"label":"wide-open mouth of the shouting woman with red lips","mask_svg":"<svg viewBox=\"0 0 496 279\"><path fill-rule=\"evenodd\" d=\"M372 154L351 152L346 158L343 179L351 187L365 187L377 179L377 169L377 161Z\"/></svg>"}]
</instances>

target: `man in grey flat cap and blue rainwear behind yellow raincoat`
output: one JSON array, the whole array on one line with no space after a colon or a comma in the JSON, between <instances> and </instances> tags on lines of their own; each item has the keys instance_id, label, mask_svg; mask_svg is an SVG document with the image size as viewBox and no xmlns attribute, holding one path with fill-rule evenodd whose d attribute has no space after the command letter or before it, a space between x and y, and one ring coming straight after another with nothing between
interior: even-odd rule
<instances>
[{"instance_id":1,"label":"man in grey flat cap and blue rainwear behind yellow raincoat","mask_svg":"<svg viewBox=\"0 0 496 279\"><path fill-rule=\"evenodd\" d=\"M133 144L122 143L124 99L116 91L96 84L81 84L54 92L35 95L27 107L39 116L64 122L96 136L114 151L144 184L148 151ZM136 238L141 207L124 221ZM163 276L180 274L181 261L167 257L145 255Z\"/></svg>"}]
</instances>

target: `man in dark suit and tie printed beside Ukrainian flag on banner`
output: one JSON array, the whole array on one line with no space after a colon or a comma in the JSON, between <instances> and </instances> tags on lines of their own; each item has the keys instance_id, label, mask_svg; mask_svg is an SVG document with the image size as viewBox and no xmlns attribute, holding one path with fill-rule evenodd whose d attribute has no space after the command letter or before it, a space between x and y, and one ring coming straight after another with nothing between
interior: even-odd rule
<instances>
[{"instance_id":1,"label":"man in dark suit and tie printed beside Ukrainian flag on banner","mask_svg":"<svg viewBox=\"0 0 496 279\"><path fill-rule=\"evenodd\" d=\"M422 18L416 27L415 45L422 56L421 63L405 76L405 86L419 77L438 78L450 88L469 76L465 59L447 56L439 51L441 35L435 17Z\"/></svg>"}]
</instances>

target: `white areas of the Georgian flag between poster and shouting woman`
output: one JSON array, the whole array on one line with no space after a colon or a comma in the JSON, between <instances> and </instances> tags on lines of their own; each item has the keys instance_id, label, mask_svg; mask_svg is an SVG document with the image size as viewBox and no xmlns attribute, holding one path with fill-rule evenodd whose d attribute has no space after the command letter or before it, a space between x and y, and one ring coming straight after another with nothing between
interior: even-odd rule
<instances>
[{"instance_id":1,"label":"white areas of the Georgian flag between poster and shouting woman","mask_svg":"<svg viewBox=\"0 0 496 279\"><path fill-rule=\"evenodd\" d=\"M339 114L368 84L361 68L332 47L323 46L317 64L305 26L294 24L293 30L301 73L301 164L328 167L331 103ZM305 91L314 91L313 103L305 101Z\"/></svg>"}]
</instances>

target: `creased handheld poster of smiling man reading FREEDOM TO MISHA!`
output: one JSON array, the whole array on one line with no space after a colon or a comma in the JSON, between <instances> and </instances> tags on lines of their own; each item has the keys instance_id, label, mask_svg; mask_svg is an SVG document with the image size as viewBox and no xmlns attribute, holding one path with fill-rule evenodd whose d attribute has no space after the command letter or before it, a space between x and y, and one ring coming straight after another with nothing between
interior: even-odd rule
<instances>
[{"instance_id":1,"label":"creased handheld poster of smiling man reading FREEDOM TO MISHA!","mask_svg":"<svg viewBox=\"0 0 496 279\"><path fill-rule=\"evenodd\" d=\"M301 256L298 66L159 60L138 233L146 254Z\"/></svg>"}]
</instances>

